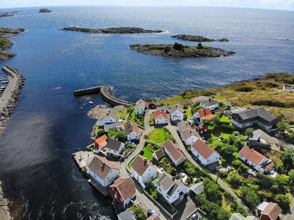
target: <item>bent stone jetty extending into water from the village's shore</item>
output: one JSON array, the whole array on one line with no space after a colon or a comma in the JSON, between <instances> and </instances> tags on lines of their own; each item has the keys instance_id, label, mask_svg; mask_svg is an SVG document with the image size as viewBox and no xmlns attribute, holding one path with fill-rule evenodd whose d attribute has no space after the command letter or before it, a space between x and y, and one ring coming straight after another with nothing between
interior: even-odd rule
<instances>
[{"instance_id":1,"label":"bent stone jetty extending into water from the village's shore","mask_svg":"<svg viewBox=\"0 0 294 220\"><path fill-rule=\"evenodd\" d=\"M99 94L100 97L107 102L110 105L117 106L117 105L134 105L135 103L129 102L129 101L124 101L119 98L116 98L112 95L111 93L111 87L110 86L96 86L96 87L91 87L87 89L80 89L80 90L75 90L73 92L74 96L85 96L89 94Z\"/></svg>"}]
</instances>

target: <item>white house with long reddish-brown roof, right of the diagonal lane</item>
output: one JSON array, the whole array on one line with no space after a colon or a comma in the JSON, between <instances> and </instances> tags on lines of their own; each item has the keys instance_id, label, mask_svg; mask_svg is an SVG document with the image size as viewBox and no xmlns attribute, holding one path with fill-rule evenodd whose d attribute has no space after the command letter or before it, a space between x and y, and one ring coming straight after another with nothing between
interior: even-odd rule
<instances>
[{"instance_id":1,"label":"white house with long reddish-brown roof, right of the diagonal lane","mask_svg":"<svg viewBox=\"0 0 294 220\"><path fill-rule=\"evenodd\" d=\"M193 145L191 145L192 154L203 165L218 162L220 154L213 148L206 145L201 139L198 139Z\"/></svg>"}]
</instances>

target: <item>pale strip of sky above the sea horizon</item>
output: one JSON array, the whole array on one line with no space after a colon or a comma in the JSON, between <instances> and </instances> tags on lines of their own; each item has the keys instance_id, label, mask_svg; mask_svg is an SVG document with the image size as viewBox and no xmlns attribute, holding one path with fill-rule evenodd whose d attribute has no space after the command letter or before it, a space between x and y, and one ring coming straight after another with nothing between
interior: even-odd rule
<instances>
[{"instance_id":1,"label":"pale strip of sky above the sea horizon","mask_svg":"<svg viewBox=\"0 0 294 220\"><path fill-rule=\"evenodd\" d=\"M294 11L294 0L0 0L0 8L61 5L213 6Z\"/></svg>"}]
</instances>

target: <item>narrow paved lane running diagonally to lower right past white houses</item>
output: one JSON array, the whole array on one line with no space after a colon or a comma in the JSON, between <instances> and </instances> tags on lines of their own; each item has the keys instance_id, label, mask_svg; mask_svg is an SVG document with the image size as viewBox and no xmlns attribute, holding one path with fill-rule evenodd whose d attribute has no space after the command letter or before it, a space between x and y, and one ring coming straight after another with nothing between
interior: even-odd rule
<instances>
[{"instance_id":1,"label":"narrow paved lane running diagonally to lower right past white houses","mask_svg":"<svg viewBox=\"0 0 294 220\"><path fill-rule=\"evenodd\" d=\"M202 168L191 156L190 153L188 153L188 151L186 150L186 148L184 147L184 144L181 140L181 138L179 137L178 133L177 133L177 126L172 125L170 120L169 120L169 124L167 126L167 128L169 128L172 136L175 139L175 142L180 146L182 152L184 153L185 157L187 157L188 160L190 160L194 165L196 165L197 167L199 167L201 170L203 170L204 168ZM205 171L207 171L210 176L214 179L217 179L217 176L215 174L213 174L211 171L204 169ZM246 210L248 212L250 212L249 208L244 204L244 202L232 191L232 189L226 184L224 183L220 178L218 180L218 183L221 185L221 187L228 191L232 196L234 196L237 199L238 204L243 205ZM250 212L251 213L251 212Z\"/></svg>"}]
</instances>

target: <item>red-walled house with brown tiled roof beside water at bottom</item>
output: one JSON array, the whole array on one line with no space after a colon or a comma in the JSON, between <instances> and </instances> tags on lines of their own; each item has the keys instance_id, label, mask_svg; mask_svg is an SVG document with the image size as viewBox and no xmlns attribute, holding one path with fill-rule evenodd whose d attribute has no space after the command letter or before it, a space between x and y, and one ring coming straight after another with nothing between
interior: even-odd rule
<instances>
[{"instance_id":1,"label":"red-walled house with brown tiled roof beside water at bottom","mask_svg":"<svg viewBox=\"0 0 294 220\"><path fill-rule=\"evenodd\" d=\"M119 177L109 187L110 194L115 197L123 207L136 196L135 184L131 177Z\"/></svg>"}]
</instances>

